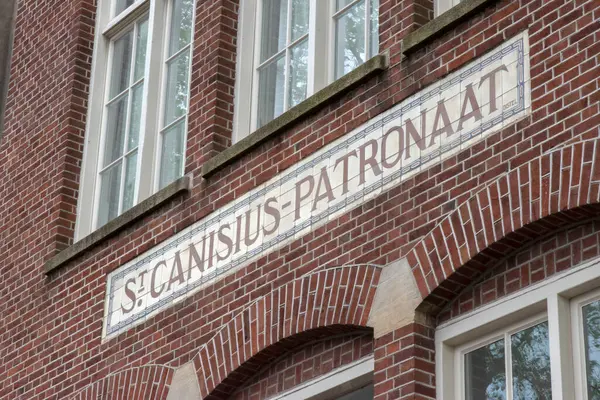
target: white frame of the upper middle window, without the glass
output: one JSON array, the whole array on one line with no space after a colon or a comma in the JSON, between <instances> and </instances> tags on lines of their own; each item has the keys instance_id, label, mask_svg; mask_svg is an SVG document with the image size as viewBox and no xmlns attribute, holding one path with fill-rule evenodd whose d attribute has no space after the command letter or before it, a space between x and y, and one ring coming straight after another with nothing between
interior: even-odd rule
<instances>
[{"instance_id":1,"label":"white frame of the upper middle window, without the glass","mask_svg":"<svg viewBox=\"0 0 600 400\"><path fill-rule=\"evenodd\" d=\"M360 0L336 12L335 0L309 0L308 83L309 98L335 80L335 23L334 15L343 14ZM262 0L240 3L238 24L238 53L234 96L233 142L255 131L258 119L258 74L260 22ZM370 15L370 1L365 0L365 13ZM370 19L365 20L365 53L370 57ZM367 61L365 60L365 61ZM248 68L252 66L252 68ZM249 106L250 105L250 106ZM287 110L286 110L287 111ZM285 112L285 111L284 111Z\"/></svg>"}]
</instances>

